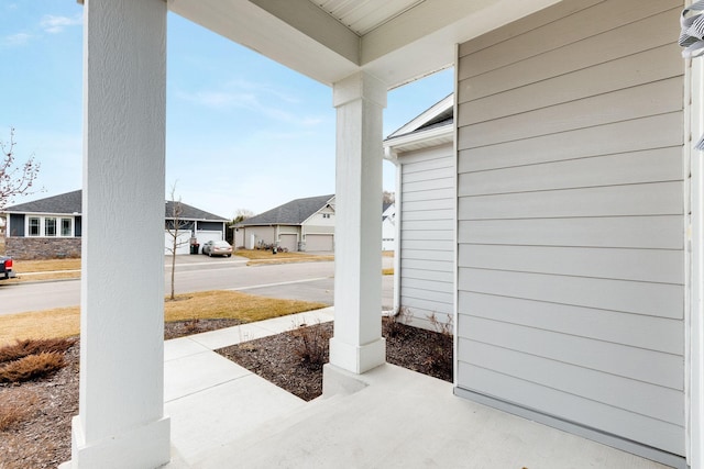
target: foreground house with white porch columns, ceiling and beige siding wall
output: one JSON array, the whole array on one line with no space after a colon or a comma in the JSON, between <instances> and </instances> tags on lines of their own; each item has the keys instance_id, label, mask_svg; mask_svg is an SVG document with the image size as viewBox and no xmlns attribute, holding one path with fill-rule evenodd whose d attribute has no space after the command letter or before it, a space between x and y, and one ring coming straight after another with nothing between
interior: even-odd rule
<instances>
[{"instance_id":1,"label":"foreground house with white porch columns, ceiling and beige siding wall","mask_svg":"<svg viewBox=\"0 0 704 469\"><path fill-rule=\"evenodd\" d=\"M170 10L331 88L328 380L385 362L377 194L387 92L454 67L454 394L704 468L704 165L693 148L704 66L676 44L690 3L87 0L81 354L90 359L81 359L73 467L170 458L161 378ZM110 234L134 206L142 230L116 243ZM100 275L128 249L140 278Z\"/></svg>"}]
</instances>

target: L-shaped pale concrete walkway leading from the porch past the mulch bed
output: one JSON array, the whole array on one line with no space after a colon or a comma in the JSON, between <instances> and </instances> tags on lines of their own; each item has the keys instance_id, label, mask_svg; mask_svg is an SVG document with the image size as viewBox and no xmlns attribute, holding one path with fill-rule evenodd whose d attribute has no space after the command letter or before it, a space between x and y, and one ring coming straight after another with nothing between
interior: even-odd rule
<instances>
[{"instance_id":1,"label":"L-shaped pale concrete walkway leading from the porch past the mulch bed","mask_svg":"<svg viewBox=\"0 0 704 469\"><path fill-rule=\"evenodd\" d=\"M169 468L195 467L252 428L302 409L306 401L212 351L332 321L332 308L211 331L164 343L164 401L172 417Z\"/></svg>"}]
</instances>

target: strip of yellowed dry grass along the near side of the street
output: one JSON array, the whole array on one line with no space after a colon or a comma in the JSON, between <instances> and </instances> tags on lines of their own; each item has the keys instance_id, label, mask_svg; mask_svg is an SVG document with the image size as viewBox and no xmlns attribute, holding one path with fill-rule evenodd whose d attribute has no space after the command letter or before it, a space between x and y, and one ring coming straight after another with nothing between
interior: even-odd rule
<instances>
[{"instance_id":1,"label":"strip of yellowed dry grass along the near side of the street","mask_svg":"<svg viewBox=\"0 0 704 469\"><path fill-rule=\"evenodd\" d=\"M166 301L164 320L237 319L253 322L326 306L324 303L277 300L237 291L202 291L177 295L176 301ZM69 337L78 335L79 331L78 306L8 314L0 316L0 346L15 339Z\"/></svg>"}]
</instances>

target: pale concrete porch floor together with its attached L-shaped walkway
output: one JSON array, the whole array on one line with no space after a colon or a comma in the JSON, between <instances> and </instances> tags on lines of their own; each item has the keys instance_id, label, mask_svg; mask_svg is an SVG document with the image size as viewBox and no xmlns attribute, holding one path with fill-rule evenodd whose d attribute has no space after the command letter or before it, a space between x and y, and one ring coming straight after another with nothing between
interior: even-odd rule
<instances>
[{"instance_id":1,"label":"pale concrete porch floor together with its attached L-shaped walkway","mask_svg":"<svg viewBox=\"0 0 704 469\"><path fill-rule=\"evenodd\" d=\"M457 398L451 383L393 365L356 377L356 392L305 402L212 351L332 314L328 308L167 340L166 467L667 467Z\"/></svg>"}]
</instances>

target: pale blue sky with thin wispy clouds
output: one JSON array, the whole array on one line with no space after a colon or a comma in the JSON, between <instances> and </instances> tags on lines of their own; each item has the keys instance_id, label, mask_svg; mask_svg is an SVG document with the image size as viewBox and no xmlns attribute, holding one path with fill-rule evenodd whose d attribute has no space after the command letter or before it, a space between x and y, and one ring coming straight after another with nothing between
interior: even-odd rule
<instances>
[{"instance_id":1,"label":"pale blue sky with thin wispy clouds","mask_svg":"<svg viewBox=\"0 0 704 469\"><path fill-rule=\"evenodd\" d=\"M0 139L41 163L45 190L80 188L82 7L0 2ZM334 192L331 89L178 15L168 15L166 190L224 217ZM384 135L452 91L452 70L388 93ZM384 189L394 190L384 164ZM165 194L165 196L167 196Z\"/></svg>"}]
</instances>

